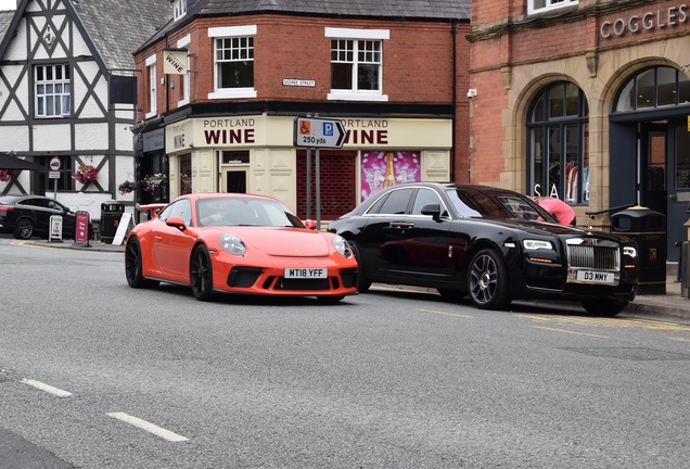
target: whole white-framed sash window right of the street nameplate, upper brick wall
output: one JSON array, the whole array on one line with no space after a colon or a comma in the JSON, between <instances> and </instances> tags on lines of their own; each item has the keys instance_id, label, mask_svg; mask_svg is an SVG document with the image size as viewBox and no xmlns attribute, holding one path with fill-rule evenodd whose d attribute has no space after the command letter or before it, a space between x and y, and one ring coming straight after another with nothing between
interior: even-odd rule
<instances>
[{"instance_id":1,"label":"whole white-framed sash window right of the street nameplate, upper brick wall","mask_svg":"<svg viewBox=\"0 0 690 469\"><path fill-rule=\"evenodd\" d=\"M383 39L387 30L325 28L331 37L332 100L387 101L383 94Z\"/></svg>"}]
</instances>

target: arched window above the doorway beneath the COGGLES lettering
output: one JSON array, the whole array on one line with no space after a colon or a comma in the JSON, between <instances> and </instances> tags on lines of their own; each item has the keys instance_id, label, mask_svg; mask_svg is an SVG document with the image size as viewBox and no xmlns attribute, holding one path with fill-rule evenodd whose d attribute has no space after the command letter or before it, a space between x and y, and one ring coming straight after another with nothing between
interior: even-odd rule
<instances>
[{"instance_id":1,"label":"arched window above the doorway beneath the COGGLES lettering","mask_svg":"<svg viewBox=\"0 0 690 469\"><path fill-rule=\"evenodd\" d=\"M657 66L634 75L621 87L613 112L690 103L690 79L680 71Z\"/></svg>"}]
</instances>

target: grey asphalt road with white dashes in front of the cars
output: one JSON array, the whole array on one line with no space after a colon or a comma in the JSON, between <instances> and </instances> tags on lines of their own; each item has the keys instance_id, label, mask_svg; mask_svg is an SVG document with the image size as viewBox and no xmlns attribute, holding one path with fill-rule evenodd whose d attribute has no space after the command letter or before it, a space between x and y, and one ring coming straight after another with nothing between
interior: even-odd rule
<instances>
[{"instance_id":1,"label":"grey asphalt road with white dashes in front of the cars","mask_svg":"<svg viewBox=\"0 0 690 469\"><path fill-rule=\"evenodd\" d=\"M201 303L123 269L0 238L3 469L690 460L689 326L386 290Z\"/></svg>"}]
</instances>

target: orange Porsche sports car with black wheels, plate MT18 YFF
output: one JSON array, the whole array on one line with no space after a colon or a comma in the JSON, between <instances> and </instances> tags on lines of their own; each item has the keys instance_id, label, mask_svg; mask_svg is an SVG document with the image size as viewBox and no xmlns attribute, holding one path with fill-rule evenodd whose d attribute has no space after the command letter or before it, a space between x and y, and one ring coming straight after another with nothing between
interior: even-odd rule
<instances>
[{"instance_id":1,"label":"orange Porsche sports car with black wheels, plate MT18 YFF","mask_svg":"<svg viewBox=\"0 0 690 469\"><path fill-rule=\"evenodd\" d=\"M132 288L186 284L202 301L214 292L324 302L357 293L357 261L347 241L314 229L314 221L305 226L276 199L188 194L140 210L150 219L131 230L125 246Z\"/></svg>"}]
</instances>

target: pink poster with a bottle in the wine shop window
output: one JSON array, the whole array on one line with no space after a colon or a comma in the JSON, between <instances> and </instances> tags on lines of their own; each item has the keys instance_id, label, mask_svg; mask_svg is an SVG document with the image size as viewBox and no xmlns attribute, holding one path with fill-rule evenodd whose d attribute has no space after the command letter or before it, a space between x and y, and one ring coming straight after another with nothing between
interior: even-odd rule
<instances>
[{"instance_id":1,"label":"pink poster with a bottle in the wine shop window","mask_svg":"<svg viewBox=\"0 0 690 469\"><path fill-rule=\"evenodd\" d=\"M379 151L361 154L361 200L381 189L421 180L419 152Z\"/></svg>"}]
</instances>

